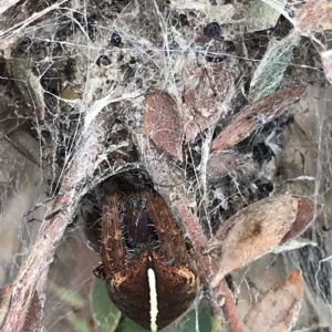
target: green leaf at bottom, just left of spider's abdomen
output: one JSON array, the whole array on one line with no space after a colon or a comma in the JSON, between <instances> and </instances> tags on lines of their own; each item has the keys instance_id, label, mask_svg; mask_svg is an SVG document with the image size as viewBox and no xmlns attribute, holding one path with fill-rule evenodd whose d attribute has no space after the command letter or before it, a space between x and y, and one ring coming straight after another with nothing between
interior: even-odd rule
<instances>
[{"instance_id":1,"label":"green leaf at bottom, just left of spider's abdomen","mask_svg":"<svg viewBox=\"0 0 332 332\"><path fill-rule=\"evenodd\" d=\"M91 310L98 332L115 331L121 319L121 312L110 300L106 284L103 280L94 280L91 298Z\"/></svg>"}]
</instances>

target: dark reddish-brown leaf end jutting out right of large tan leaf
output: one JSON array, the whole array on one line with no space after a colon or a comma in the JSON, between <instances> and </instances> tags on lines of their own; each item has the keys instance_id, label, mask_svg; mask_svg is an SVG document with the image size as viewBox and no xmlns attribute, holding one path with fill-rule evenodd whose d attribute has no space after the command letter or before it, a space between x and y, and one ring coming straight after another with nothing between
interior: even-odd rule
<instances>
[{"instance_id":1,"label":"dark reddish-brown leaf end jutting out right of large tan leaf","mask_svg":"<svg viewBox=\"0 0 332 332\"><path fill-rule=\"evenodd\" d=\"M302 197L298 198L298 201L299 207L297 219L279 245L283 245L290 239L300 236L314 219L314 217L322 210L322 206L318 204L315 205L311 198Z\"/></svg>"}]
</instances>

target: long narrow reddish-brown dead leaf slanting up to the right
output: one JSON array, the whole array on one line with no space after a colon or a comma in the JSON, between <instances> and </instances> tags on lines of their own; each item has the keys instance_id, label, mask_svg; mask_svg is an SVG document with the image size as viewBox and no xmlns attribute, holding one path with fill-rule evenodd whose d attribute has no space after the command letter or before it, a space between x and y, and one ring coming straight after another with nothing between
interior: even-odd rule
<instances>
[{"instance_id":1,"label":"long narrow reddish-brown dead leaf slanting up to the right","mask_svg":"<svg viewBox=\"0 0 332 332\"><path fill-rule=\"evenodd\" d=\"M260 123L280 116L305 92L304 85L278 91L242 108L211 143L211 151L227 149L247 137Z\"/></svg>"}]
</instances>

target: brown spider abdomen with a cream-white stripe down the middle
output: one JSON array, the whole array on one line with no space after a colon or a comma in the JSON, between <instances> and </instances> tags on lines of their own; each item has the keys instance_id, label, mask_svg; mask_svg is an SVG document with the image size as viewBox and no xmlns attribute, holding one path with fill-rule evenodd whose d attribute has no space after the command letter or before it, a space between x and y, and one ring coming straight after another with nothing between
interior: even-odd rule
<instances>
[{"instance_id":1,"label":"brown spider abdomen with a cream-white stripe down the middle","mask_svg":"<svg viewBox=\"0 0 332 332\"><path fill-rule=\"evenodd\" d=\"M198 290L198 279L189 268L167 264L155 251L144 251L106 283L113 303L151 331L165 328L183 314Z\"/></svg>"}]
</instances>

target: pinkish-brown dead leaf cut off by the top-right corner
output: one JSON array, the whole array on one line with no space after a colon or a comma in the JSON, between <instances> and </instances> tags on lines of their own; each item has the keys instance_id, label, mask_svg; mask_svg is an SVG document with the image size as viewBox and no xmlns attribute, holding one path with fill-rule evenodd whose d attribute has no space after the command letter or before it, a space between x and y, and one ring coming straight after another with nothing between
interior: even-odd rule
<instances>
[{"instance_id":1,"label":"pinkish-brown dead leaf cut off by the top-right corner","mask_svg":"<svg viewBox=\"0 0 332 332\"><path fill-rule=\"evenodd\" d=\"M309 0L298 11L297 22L303 33L332 29L332 6L326 0Z\"/></svg>"}]
</instances>

